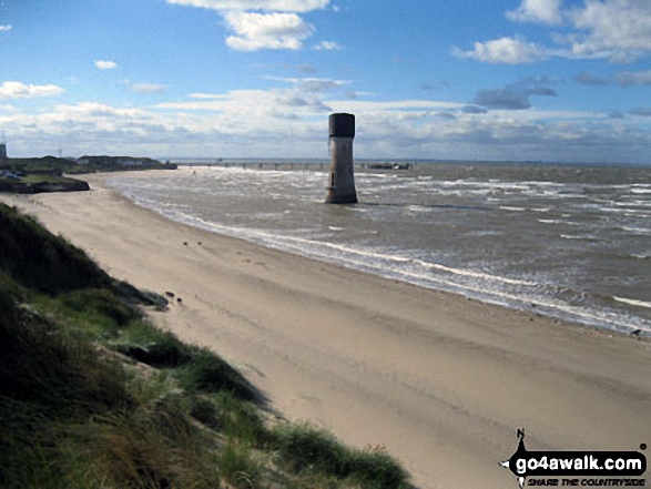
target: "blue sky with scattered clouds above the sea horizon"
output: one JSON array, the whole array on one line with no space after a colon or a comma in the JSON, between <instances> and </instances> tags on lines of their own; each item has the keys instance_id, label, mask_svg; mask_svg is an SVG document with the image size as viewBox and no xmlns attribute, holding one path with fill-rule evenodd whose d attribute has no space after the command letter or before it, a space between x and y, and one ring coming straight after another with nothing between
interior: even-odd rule
<instances>
[{"instance_id":1,"label":"blue sky with scattered clouds above the sea horizon","mask_svg":"<svg viewBox=\"0 0 651 489\"><path fill-rule=\"evenodd\" d=\"M0 0L9 156L651 164L651 0Z\"/></svg>"}]
</instances>

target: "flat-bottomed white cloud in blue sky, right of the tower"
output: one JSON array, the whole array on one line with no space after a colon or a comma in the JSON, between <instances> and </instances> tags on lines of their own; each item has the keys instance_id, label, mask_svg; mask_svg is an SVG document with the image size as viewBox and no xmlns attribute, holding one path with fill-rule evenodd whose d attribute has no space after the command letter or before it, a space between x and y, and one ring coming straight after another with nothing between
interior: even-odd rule
<instances>
[{"instance_id":1,"label":"flat-bottomed white cloud in blue sky, right of the tower","mask_svg":"<svg viewBox=\"0 0 651 489\"><path fill-rule=\"evenodd\" d=\"M459 58L470 58L491 64L533 63L548 55L543 48L515 38L475 42L471 51L462 51L455 47L452 53Z\"/></svg>"}]
</instances>

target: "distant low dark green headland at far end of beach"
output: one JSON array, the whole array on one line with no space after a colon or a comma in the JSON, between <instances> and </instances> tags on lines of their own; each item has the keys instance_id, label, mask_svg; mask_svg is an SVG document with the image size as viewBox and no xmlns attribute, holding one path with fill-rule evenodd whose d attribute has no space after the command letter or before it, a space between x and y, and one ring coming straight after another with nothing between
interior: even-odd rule
<instances>
[{"instance_id":1,"label":"distant low dark green headland at far end of beach","mask_svg":"<svg viewBox=\"0 0 651 489\"><path fill-rule=\"evenodd\" d=\"M82 156L79 160L54 156L11 157L0 160L0 192L34 194L88 191L88 183L63 176L63 174L175 169L175 164L161 163L149 157Z\"/></svg>"}]
</instances>

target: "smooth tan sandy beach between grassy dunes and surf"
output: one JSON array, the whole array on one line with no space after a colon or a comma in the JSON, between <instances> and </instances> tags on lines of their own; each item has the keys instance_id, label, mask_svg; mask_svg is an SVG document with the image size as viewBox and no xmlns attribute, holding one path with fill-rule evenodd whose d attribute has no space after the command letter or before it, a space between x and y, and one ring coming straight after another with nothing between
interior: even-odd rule
<instances>
[{"instance_id":1,"label":"smooth tan sandy beach between grassy dunes and surf","mask_svg":"<svg viewBox=\"0 0 651 489\"><path fill-rule=\"evenodd\" d=\"M418 487L516 488L498 462L520 427L529 450L651 445L649 342L189 227L103 179L88 179L91 192L0 200L113 276L176 294L157 324L213 348L289 419L385 446Z\"/></svg>"}]
</instances>

